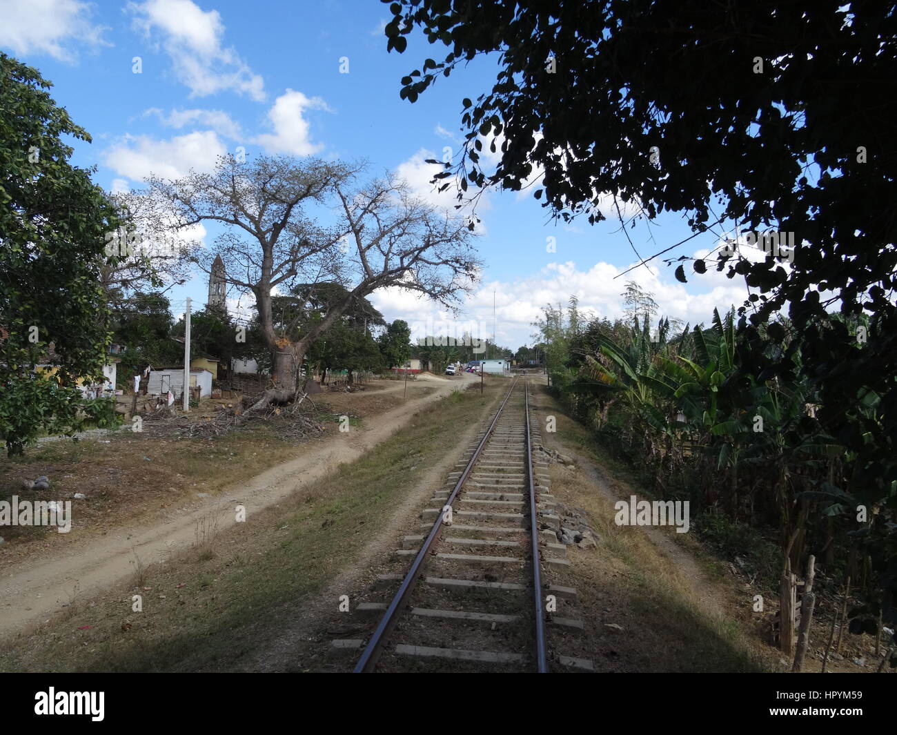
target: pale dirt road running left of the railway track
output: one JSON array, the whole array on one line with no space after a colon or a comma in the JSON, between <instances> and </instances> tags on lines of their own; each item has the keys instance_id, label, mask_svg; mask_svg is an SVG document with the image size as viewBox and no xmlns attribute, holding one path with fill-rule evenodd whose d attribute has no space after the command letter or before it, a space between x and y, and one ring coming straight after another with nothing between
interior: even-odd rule
<instances>
[{"instance_id":1,"label":"pale dirt road running left of the railway track","mask_svg":"<svg viewBox=\"0 0 897 735\"><path fill-rule=\"evenodd\" d=\"M409 400L406 405L377 416L370 421L370 427L352 427L350 432L313 448L305 445L300 457L266 470L243 486L181 508L174 518L152 527L115 529L104 538L93 538L90 543L65 549L64 554L48 556L37 564L23 562L4 569L0 573L0 635L46 619L76 595L96 594L134 573L136 564L164 562L172 552L192 544L202 529L229 528L236 522L239 503L245 506L247 516L278 503L340 463L357 459L387 439L422 407L471 381L473 378L468 381L421 376L417 385L427 382L434 387L429 396Z\"/></svg>"}]
</instances>

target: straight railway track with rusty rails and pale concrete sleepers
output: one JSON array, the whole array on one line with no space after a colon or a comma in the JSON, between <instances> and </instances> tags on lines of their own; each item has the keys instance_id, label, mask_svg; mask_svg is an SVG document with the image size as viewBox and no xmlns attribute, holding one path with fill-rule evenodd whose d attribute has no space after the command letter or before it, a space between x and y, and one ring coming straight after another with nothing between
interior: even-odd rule
<instances>
[{"instance_id":1,"label":"straight railway track with rusty rails and pale concrete sleepers","mask_svg":"<svg viewBox=\"0 0 897 735\"><path fill-rule=\"evenodd\" d=\"M540 515L554 504L540 446L529 386L515 378L422 511L422 532L396 550L393 562L403 571L378 575L381 589L396 590L391 599L356 608L379 616L376 628L366 641L333 642L361 650L356 673L591 668L591 661L552 656L548 644L546 623L582 623L546 615L576 591L546 579L569 563L550 529L540 546Z\"/></svg>"}]
</instances>

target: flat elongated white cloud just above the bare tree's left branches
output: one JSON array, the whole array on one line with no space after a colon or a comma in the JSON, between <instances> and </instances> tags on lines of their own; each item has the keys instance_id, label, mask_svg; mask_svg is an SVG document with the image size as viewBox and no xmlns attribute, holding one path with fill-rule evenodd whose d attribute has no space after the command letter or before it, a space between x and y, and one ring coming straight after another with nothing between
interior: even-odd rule
<instances>
[{"instance_id":1,"label":"flat elongated white cloud just above the bare tree's left branches","mask_svg":"<svg viewBox=\"0 0 897 735\"><path fill-rule=\"evenodd\" d=\"M109 149L105 163L128 179L143 180L150 174L179 179L187 171L211 171L227 148L212 130L156 140L149 136L126 136L125 143Z\"/></svg>"}]
</instances>

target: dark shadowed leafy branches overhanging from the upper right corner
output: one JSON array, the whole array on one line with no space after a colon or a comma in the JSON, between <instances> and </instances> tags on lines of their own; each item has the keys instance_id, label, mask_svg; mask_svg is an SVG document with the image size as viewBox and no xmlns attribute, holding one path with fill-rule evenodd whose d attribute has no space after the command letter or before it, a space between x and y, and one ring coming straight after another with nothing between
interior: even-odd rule
<instances>
[{"instance_id":1,"label":"dark shadowed leafy branches overhanging from the upper right corner","mask_svg":"<svg viewBox=\"0 0 897 735\"><path fill-rule=\"evenodd\" d=\"M438 174L459 177L459 196L468 185L531 187L564 219L610 214L628 226L677 212L695 235L736 223L754 239L776 233L778 246L792 233L794 249L765 258L721 248L712 256L750 290L728 380L811 381L820 430L856 459L851 501L897 506L893 2L389 7L389 49L405 51L418 29L448 48L402 79L408 101L473 58L499 55L492 90L461 101L464 149ZM501 152L493 170L484 147ZM680 281L708 267L667 257L684 261ZM787 324L770 320L786 308ZM830 311L839 309L836 319ZM871 531L888 533L882 524Z\"/></svg>"}]
</instances>

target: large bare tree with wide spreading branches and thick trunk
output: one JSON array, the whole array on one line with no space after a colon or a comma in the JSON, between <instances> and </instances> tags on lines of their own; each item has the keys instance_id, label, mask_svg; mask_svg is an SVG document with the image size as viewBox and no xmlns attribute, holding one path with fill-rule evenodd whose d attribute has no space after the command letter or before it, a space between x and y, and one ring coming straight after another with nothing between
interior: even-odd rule
<instances>
[{"instance_id":1,"label":"large bare tree with wide spreading branches and thick trunk","mask_svg":"<svg viewBox=\"0 0 897 735\"><path fill-rule=\"evenodd\" d=\"M414 197L393 174L361 182L363 165L316 158L219 160L212 173L148 179L148 195L177 226L219 223L211 250L196 257L208 272L215 255L227 282L255 296L274 380L289 396L314 341L356 300L398 286L452 306L474 284L479 261L467 223ZM296 284L339 283L343 299L322 319L276 322L273 293ZM292 335L292 337L291 337Z\"/></svg>"}]
</instances>

